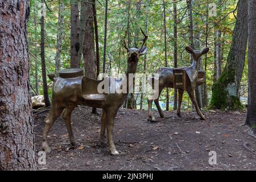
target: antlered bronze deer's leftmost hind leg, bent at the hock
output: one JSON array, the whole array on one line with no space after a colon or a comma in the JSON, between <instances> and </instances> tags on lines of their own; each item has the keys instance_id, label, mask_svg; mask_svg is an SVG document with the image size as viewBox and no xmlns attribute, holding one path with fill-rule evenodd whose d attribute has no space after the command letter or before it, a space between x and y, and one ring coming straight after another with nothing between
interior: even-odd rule
<instances>
[{"instance_id":1,"label":"antlered bronze deer's leftmost hind leg, bent at the hock","mask_svg":"<svg viewBox=\"0 0 256 182\"><path fill-rule=\"evenodd\" d=\"M59 115L61 114L62 111L63 111L63 107L57 107L52 104L48 117L46 119L44 119L42 148L47 153L51 152L51 149L49 148L48 143L47 143L47 134L48 134L49 130L51 129L53 123L59 117Z\"/></svg>"}]
</instances>

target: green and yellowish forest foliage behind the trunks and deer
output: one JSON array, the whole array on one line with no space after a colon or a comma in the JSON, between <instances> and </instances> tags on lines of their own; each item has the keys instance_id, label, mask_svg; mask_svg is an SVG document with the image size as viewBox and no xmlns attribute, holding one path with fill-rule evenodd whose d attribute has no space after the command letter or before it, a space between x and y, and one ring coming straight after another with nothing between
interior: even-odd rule
<instances>
[{"instance_id":1,"label":"green and yellowish forest foliage behind the trunks and deer","mask_svg":"<svg viewBox=\"0 0 256 182\"><path fill-rule=\"evenodd\" d=\"M30 81L31 85L35 88L35 63L38 61L38 78L39 78L39 94L43 94L42 89L42 77L41 77L41 66L40 66L40 16L39 12L39 0L31 0L31 13L28 22L28 44L30 51ZM65 9L61 12L64 15L64 34L63 44L61 51L61 68L70 67L70 1L46 1L49 9L46 11L45 27L46 27L46 68L47 74L55 72L55 54L56 54L56 39L58 29L58 12L59 3L64 3ZM99 3L100 2L100 3ZM99 46L100 46L100 70L102 71L102 60L103 60L103 44L104 44L104 12L105 12L105 1L96 1L97 8L97 20L98 20L98 35L99 35ZM109 1L108 8L108 34L107 34L107 47L106 47L106 69L107 73L110 73L110 67L114 70L114 73L124 73L126 71L127 57L126 50L123 48L123 39L128 39L130 35L130 47L139 47L141 42L135 38L135 32L141 27L145 30L146 19L148 19L148 30L149 35L147 40L147 60L146 60L146 72L153 73L156 69L164 67L164 28L163 28L163 1L150 1L142 0L141 9L138 11L137 2L130 1L130 22L129 29L128 24L128 5L127 1ZM193 24L194 24L194 36L199 35L198 38L194 39L194 42L200 44L201 49L205 47L205 35L206 35L206 15L208 4L206 0L193 1ZM185 46L190 44L189 42L189 18L187 11L186 1L177 1L177 19L179 24L177 25L177 60L178 67L189 66L191 64L190 55L184 51ZM210 3L218 3L218 0L210 1ZM226 63L230 44L232 42L232 31L234 27L234 18L232 12L236 8L237 1L230 0L224 1L220 6L217 7L218 16L209 17L208 19L208 47L210 51L207 59L207 92L208 96L211 96L211 88L213 85L213 73L214 73L214 29L220 28L222 31L222 54L223 63ZM89 4L88 4L89 5ZM166 28L167 28L167 61L168 67L174 65L174 18L173 18L173 1L166 1ZM225 17L225 18L224 18ZM139 38L142 38L141 32L138 32ZM111 63L110 63L111 60ZM205 57L202 57L201 64L204 68ZM143 73L143 58L140 59L138 73ZM245 67L247 72L247 67ZM226 73L228 74L228 73ZM225 76L225 74L224 74ZM246 74L243 75L242 85L246 88ZM51 82L47 78L48 84ZM213 90L220 90L221 84L214 84ZM50 90L50 89L49 89ZM50 92L49 92L50 93ZM170 89L170 96L173 96L174 91ZM225 95L225 91L214 92L212 97L220 97ZM245 93L246 95L246 93ZM135 98L140 98L135 96ZM144 98L144 106L147 107L146 97ZM163 90L160 101L165 102L166 90ZM173 97L170 97L172 102ZM189 98L187 94L184 94L184 106L188 106ZM226 101L221 101L220 105L225 105ZM137 101L139 104L139 101ZM165 104L163 104L165 105ZM218 106L220 106L218 105Z\"/></svg>"}]
</instances>

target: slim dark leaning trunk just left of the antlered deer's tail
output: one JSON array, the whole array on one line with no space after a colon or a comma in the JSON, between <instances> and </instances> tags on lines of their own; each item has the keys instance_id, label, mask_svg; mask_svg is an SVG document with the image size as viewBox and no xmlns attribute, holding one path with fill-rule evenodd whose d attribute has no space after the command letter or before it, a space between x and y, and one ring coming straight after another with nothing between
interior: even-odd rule
<instances>
[{"instance_id":1,"label":"slim dark leaning trunk just left of the antlered deer's tail","mask_svg":"<svg viewBox=\"0 0 256 182\"><path fill-rule=\"evenodd\" d=\"M41 0L41 3L44 3L44 0ZM49 102L48 96L48 87L47 87L47 78L46 78L46 58L44 55L44 15L42 14L41 17L41 68L42 68L42 78L43 78L43 90L44 90L44 103L46 107L50 106L51 103Z\"/></svg>"}]
</instances>

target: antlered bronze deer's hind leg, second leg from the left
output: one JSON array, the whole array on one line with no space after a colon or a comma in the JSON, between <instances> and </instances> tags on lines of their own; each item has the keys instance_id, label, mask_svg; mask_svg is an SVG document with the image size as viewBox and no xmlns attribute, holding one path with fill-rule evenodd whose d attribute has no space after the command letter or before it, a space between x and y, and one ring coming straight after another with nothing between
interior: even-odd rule
<instances>
[{"instance_id":1,"label":"antlered bronze deer's hind leg, second leg from the left","mask_svg":"<svg viewBox=\"0 0 256 182\"><path fill-rule=\"evenodd\" d=\"M67 107L65 107L65 109L63 110L63 112L61 114L64 119L64 122L67 126L69 140L70 140L70 143L72 144L72 146L76 145L72 127L71 127L71 113L75 107L76 107L76 104L73 104L73 103L68 104Z\"/></svg>"}]
</instances>

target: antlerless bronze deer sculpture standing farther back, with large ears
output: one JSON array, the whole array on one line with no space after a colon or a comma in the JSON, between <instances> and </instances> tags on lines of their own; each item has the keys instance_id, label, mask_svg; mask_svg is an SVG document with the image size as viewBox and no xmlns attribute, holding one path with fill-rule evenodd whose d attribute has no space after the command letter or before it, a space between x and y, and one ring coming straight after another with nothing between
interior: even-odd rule
<instances>
[{"instance_id":1,"label":"antlerless bronze deer sculpture standing farther back, with large ears","mask_svg":"<svg viewBox=\"0 0 256 182\"><path fill-rule=\"evenodd\" d=\"M191 47L185 48L188 53L192 56L192 65L190 67L183 67L183 68L159 68L156 73L159 74L159 95L156 100L154 100L155 105L159 111L160 117L165 118L165 115L159 105L159 96L160 93L164 88L178 88L179 92L179 102L177 107L177 115L181 117L180 114L180 107L182 102L182 97L184 90L188 92L189 97L191 98L191 101L196 107L196 112L200 116L200 119L205 120L204 114L201 112L197 101L195 97L195 88L196 86L199 86L203 84L205 78L202 78L205 76L204 71L199 72L199 61L202 55L207 53L209 51L209 48L204 48L203 51L197 51L193 50ZM177 73L176 73L177 72ZM178 83L175 79L175 73L176 75L181 75L185 78L181 78ZM184 74L183 74L184 73ZM200 73L200 79L199 79L199 73ZM203 76L202 76L203 75ZM186 82L183 82L183 80L187 80ZM154 78L148 78L148 82L150 84L154 83ZM178 84L181 84L181 86L178 86ZM152 85L151 85L152 86ZM151 121L156 121L154 115L152 114L152 102L153 100L148 99L148 116L151 119Z\"/></svg>"}]
</instances>

